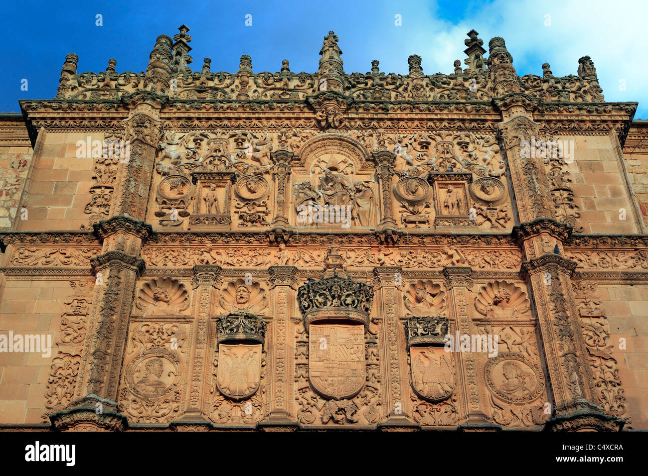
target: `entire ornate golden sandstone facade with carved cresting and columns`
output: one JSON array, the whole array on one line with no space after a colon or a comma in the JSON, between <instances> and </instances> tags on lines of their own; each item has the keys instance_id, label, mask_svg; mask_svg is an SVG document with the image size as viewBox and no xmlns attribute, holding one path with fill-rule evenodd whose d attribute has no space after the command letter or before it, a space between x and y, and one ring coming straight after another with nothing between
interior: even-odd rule
<instances>
[{"instance_id":1,"label":"entire ornate golden sandstone facade with carved cresting and columns","mask_svg":"<svg viewBox=\"0 0 648 476\"><path fill-rule=\"evenodd\" d=\"M188 31L0 118L1 330L54 343L0 354L1 424L648 429L648 128L591 58L472 30L467 69L349 74L331 31L213 73Z\"/></svg>"}]
</instances>

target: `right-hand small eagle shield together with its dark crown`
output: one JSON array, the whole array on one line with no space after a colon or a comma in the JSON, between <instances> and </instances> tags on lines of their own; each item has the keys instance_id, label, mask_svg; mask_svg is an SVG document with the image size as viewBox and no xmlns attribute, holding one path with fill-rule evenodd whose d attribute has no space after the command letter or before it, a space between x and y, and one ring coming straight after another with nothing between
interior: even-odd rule
<instances>
[{"instance_id":1,"label":"right-hand small eagle shield together with its dark crown","mask_svg":"<svg viewBox=\"0 0 648 476\"><path fill-rule=\"evenodd\" d=\"M447 317L432 316L413 316L405 324L411 387L418 396L432 402L445 400L454 391L452 352L447 352L444 345L449 325Z\"/></svg>"}]
</instances>

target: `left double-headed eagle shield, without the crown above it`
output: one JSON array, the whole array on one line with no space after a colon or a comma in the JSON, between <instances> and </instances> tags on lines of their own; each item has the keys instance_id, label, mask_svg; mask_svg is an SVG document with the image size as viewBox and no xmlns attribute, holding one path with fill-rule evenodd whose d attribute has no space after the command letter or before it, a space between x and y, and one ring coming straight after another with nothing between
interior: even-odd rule
<instances>
[{"instance_id":1,"label":"left double-headed eagle shield, without the crown above it","mask_svg":"<svg viewBox=\"0 0 648 476\"><path fill-rule=\"evenodd\" d=\"M234 400L253 395L261 375L260 344L220 344L218 348L218 391Z\"/></svg>"}]
</instances>

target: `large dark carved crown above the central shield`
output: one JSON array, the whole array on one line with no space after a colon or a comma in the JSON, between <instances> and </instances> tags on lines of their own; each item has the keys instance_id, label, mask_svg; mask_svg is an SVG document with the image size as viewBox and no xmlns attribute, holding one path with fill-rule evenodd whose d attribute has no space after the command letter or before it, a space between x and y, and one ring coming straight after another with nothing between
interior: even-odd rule
<instances>
[{"instance_id":1,"label":"large dark carved crown above the central shield","mask_svg":"<svg viewBox=\"0 0 648 476\"><path fill-rule=\"evenodd\" d=\"M297 299L305 326L316 321L352 321L369 326L374 291L369 284L333 275L299 286Z\"/></svg>"}]
</instances>

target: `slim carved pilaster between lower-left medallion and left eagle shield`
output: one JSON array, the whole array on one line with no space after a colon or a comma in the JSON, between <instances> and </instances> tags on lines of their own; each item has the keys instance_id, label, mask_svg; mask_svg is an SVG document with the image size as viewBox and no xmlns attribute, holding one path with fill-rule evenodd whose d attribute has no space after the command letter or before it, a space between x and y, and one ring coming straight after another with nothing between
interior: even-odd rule
<instances>
[{"instance_id":1,"label":"slim carved pilaster between lower-left medallion and left eagle shield","mask_svg":"<svg viewBox=\"0 0 648 476\"><path fill-rule=\"evenodd\" d=\"M214 286L220 286L220 266L194 266L194 277L191 280L194 289L194 329L196 330L192 345L190 381L189 381L189 402L183 420L207 420L203 414L209 413L207 394L205 394L205 382L211 381L209 372L211 365L205 359L209 351L209 317ZM208 389L207 389L208 391Z\"/></svg>"}]
</instances>

